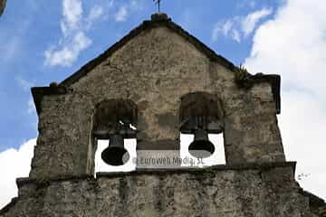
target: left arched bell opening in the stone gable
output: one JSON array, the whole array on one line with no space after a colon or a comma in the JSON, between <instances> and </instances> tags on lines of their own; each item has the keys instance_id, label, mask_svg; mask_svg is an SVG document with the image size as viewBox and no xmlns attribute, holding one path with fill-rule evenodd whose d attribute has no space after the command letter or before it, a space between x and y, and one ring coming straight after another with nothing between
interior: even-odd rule
<instances>
[{"instance_id":1,"label":"left arched bell opening in the stone gable","mask_svg":"<svg viewBox=\"0 0 326 217\"><path fill-rule=\"evenodd\" d=\"M95 173L130 171L136 156L137 105L129 99L101 101L93 118Z\"/></svg>"}]
</instances>

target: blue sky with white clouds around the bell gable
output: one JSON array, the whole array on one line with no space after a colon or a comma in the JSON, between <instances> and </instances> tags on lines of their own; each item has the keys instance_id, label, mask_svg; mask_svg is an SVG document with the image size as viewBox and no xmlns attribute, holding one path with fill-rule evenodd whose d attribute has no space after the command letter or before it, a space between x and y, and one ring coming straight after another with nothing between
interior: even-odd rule
<instances>
[{"instance_id":1,"label":"blue sky with white clouds around the bell gable","mask_svg":"<svg viewBox=\"0 0 326 217\"><path fill-rule=\"evenodd\" d=\"M9 0L0 17L0 162L37 137L31 87L64 80L156 10L152 0ZM326 197L325 1L162 0L161 10L236 65L281 74L285 154L298 161L302 186Z\"/></svg>"}]
</instances>

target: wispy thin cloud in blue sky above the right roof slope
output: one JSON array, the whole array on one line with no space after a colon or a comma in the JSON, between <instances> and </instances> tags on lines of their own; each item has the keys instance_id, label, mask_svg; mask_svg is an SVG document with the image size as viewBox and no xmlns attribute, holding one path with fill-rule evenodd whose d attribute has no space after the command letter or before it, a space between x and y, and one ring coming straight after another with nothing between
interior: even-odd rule
<instances>
[{"instance_id":1,"label":"wispy thin cloud in blue sky above the right roof slope","mask_svg":"<svg viewBox=\"0 0 326 217\"><path fill-rule=\"evenodd\" d=\"M235 42L241 42L254 31L256 25L267 15L272 14L272 9L263 8L246 16L235 16L234 18L219 22L212 32L212 41L216 42L221 35L230 36Z\"/></svg>"}]
</instances>

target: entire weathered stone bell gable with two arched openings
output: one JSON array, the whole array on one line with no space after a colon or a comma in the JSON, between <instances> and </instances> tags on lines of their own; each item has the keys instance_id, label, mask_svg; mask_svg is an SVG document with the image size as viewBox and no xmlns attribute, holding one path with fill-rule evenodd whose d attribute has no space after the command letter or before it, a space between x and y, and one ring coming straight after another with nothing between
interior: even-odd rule
<instances>
[{"instance_id":1,"label":"entire weathered stone bell gable with two arched openings","mask_svg":"<svg viewBox=\"0 0 326 217\"><path fill-rule=\"evenodd\" d=\"M318 216L324 202L302 191L283 153L280 82L236 67L167 14L153 14L71 77L32 89L32 169L0 217ZM180 133L198 127L223 134L225 165L94 177L97 139L121 134L137 139L138 156L178 156Z\"/></svg>"}]
</instances>

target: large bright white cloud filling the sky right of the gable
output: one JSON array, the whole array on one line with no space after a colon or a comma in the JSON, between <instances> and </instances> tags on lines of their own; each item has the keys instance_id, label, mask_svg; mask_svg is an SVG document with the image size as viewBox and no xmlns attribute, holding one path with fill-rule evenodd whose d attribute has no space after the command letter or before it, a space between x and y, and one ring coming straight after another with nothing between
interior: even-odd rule
<instances>
[{"instance_id":1,"label":"large bright white cloud filling the sky right of the gable","mask_svg":"<svg viewBox=\"0 0 326 217\"><path fill-rule=\"evenodd\" d=\"M290 0L254 33L249 71L283 79L280 126L287 159L298 161L300 183L326 198L326 4Z\"/></svg>"}]
</instances>

